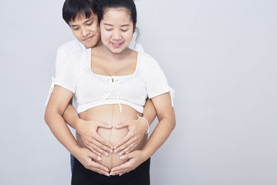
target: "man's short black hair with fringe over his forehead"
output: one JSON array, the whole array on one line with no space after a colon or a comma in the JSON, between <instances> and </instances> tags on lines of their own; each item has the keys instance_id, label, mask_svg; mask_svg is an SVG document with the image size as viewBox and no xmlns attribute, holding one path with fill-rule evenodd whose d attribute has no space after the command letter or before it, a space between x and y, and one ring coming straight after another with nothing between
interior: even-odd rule
<instances>
[{"instance_id":1,"label":"man's short black hair with fringe over his forehead","mask_svg":"<svg viewBox=\"0 0 277 185\"><path fill-rule=\"evenodd\" d=\"M98 0L66 0L62 7L62 18L69 24L69 21L75 20L77 16L82 14L86 18L93 14L98 15L99 13L99 1Z\"/></svg>"}]
</instances>

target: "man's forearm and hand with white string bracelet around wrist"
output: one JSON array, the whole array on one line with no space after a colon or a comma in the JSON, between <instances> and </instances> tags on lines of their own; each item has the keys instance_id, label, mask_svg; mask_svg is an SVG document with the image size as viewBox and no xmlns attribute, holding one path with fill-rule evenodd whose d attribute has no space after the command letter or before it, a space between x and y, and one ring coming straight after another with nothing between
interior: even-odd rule
<instances>
[{"instance_id":1,"label":"man's forearm and hand with white string bracelet around wrist","mask_svg":"<svg viewBox=\"0 0 277 185\"><path fill-rule=\"evenodd\" d=\"M143 109L143 118L145 118L149 125L151 125L154 121L154 118L156 117L156 114L157 112L152 103L152 100L148 99ZM119 155L132 152L133 148L136 148L136 146L141 143L141 140L148 130L148 125L143 119L124 121L116 125L116 128L121 127L127 127L129 132L121 141L116 143L116 146L114 146L116 149L114 152L119 152Z\"/></svg>"}]
</instances>

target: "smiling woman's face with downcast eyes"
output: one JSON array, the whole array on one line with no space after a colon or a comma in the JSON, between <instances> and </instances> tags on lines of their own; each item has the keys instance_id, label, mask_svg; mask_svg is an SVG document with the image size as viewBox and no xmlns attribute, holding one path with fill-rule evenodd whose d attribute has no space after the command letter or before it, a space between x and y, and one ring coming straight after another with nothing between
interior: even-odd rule
<instances>
[{"instance_id":1,"label":"smiling woman's face with downcast eyes","mask_svg":"<svg viewBox=\"0 0 277 185\"><path fill-rule=\"evenodd\" d=\"M112 53L122 53L132 41L134 24L126 8L107 8L100 21L103 46Z\"/></svg>"}]
</instances>

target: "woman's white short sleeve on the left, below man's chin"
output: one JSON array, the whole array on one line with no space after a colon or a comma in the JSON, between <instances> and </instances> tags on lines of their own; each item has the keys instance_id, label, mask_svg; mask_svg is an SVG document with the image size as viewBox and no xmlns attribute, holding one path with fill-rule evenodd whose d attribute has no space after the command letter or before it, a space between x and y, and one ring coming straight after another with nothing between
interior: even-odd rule
<instances>
[{"instance_id":1,"label":"woman's white short sleeve on the left, below man's chin","mask_svg":"<svg viewBox=\"0 0 277 185\"><path fill-rule=\"evenodd\" d=\"M59 85L75 93L80 76L82 52L71 55L57 52L55 85Z\"/></svg>"}]
</instances>

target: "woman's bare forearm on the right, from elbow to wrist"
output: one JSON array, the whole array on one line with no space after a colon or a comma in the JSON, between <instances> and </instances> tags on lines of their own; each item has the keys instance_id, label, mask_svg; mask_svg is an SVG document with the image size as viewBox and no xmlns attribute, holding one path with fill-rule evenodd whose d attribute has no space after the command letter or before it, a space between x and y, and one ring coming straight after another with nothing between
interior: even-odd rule
<instances>
[{"instance_id":1,"label":"woman's bare forearm on the right, from elbow to wrist","mask_svg":"<svg viewBox=\"0 0 277 185\"><path fill-rule=\"evenodd\" d=\"M175 118L162 118L152 132L148 142L143 148L145 160L151 157L161 145L168 139L170 133L175 128Z\"/></svg>"}]
</instances>

